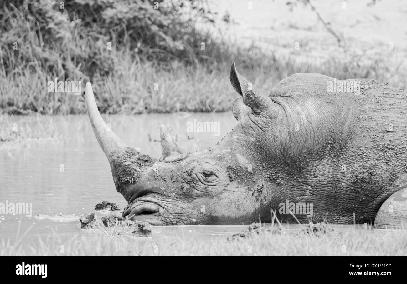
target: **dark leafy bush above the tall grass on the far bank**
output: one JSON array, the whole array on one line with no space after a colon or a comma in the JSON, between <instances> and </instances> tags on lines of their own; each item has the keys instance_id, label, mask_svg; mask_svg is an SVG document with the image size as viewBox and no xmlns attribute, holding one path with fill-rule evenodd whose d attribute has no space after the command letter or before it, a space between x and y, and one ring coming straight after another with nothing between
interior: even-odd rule
<instances>
[{"instance_id":1,"label":"dark leafy bush above the tall grass on the far bank","mask_svg":"<svg viewBox=\"0 0 407 284\"><path fill-rule=\"evenodd\" d=\"M2 72L29 66L59 78L92 78L109 74L115 51L124 48L134 61L192 63L200 50L191 36L195 22L213 21L202 7L188 0L7 0L0 10Z\"/></svg>"}]
</instances>

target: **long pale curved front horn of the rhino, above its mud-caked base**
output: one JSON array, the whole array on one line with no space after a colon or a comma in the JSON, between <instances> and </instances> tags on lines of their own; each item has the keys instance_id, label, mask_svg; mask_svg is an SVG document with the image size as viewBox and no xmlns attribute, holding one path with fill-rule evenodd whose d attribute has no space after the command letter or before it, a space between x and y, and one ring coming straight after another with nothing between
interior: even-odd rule
<instances>
[{"instance_id":1,"label":"long pale curved front horn of the rhino, above its mud-caked base","mask_svg":"<svg viewBox=\"0 0 407 284\"><path fill-rule=\"evenodd\" d=\"M112 159L117 156L117 154L123 153L127 146L109 127L107 127L105 121L103 121L98 111L98 107L96 106L90 82L86 83L85 101L90 123L92 124L96 139L109 162L112 162Z\"/></svg>"}]
</instances>

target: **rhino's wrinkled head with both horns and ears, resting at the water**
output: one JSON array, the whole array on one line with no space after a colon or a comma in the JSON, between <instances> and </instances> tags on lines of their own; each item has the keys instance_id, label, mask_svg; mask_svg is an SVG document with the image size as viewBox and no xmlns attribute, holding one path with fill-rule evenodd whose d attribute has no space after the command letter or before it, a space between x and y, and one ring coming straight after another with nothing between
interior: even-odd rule
<instances>
[{"instance_id":1,"label":"rhino's wrinkled head with both horns and ears, resting at the water","mask_svg":"<svg viewBox=\"0 0 407 284\"><path fill-rule=\"evenodd\" d=\"M230 81L241 95L232 107L238 120L234 129L217 145L191 154L161 125L159 160L127 147L107 127L87 83L92 128L116 189L128 202L123 217L153 225L242 224L259 215L267 220L271 193L280 182L273 165L280 169L279 145L287 139L283 110L236 72L234 63Z\"/></svg>"}]
</instances>

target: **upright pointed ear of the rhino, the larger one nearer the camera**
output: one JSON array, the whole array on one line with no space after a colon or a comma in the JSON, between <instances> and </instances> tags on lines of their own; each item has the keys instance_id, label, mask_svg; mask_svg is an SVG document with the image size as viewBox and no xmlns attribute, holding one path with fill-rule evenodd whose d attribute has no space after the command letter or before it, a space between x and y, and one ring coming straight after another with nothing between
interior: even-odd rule
<instances>
[{"instance_id":1,"label":"upright pointed ear of the rhino, the larger one nearer the camera","mask_svg":"<svg viewBox=\"0 0 407 284\"><path fill-rule=\"evenodd\" d=\"M234 62L230 68L230 82L232 83L232 86L236 92L242 96L243 103L251 108L255 115L262 115L269 118L276 116L277 106L274 104L274 102L262 91L254 87L245 77L239 74L236 71ZM238 107L236 101L234 103L234 108L236 108L236 113L238 112L237 110L242 110L241 107ZM235 111L233 114L236 117Z\"/></svg>"}]
</instances>

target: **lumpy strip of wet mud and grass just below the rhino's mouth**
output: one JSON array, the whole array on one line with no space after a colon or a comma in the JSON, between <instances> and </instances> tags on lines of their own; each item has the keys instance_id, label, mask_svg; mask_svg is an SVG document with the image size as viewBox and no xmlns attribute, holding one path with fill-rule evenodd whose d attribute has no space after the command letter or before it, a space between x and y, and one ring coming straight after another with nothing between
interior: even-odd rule
<instances>
[{"instance_id":1,"label":"lumpy strip of wet mud and grass just below the rhino's mouth","mask_svg":"<svg viewBox=\"0 0 407 284\"><path fill-rule=\"evenodd\" d=\"M81 229L94 229L103 223L105 228L118 228L123 227L127 232L130 232L133 236L139 237L151 237L152 225L143 221L130 221L124 219L122 216L109 215L97 217L94 213L82 214L79 217L81 221Z\"/></svg>"}]
</instances>

